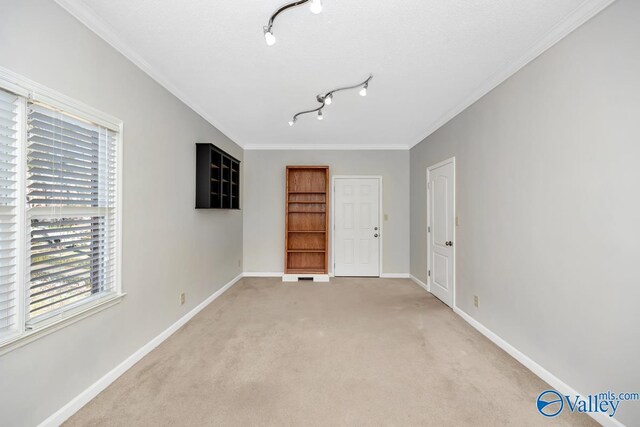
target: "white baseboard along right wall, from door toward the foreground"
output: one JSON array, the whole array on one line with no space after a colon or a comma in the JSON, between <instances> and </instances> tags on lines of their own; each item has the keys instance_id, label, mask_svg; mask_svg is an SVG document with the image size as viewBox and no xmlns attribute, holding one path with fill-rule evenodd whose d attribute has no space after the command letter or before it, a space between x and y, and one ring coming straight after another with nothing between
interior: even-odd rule
<instances>
[{"instance_id":1,"label":"white baseboard along right wall, from door toward the foreground","mask_svg":"<svg viewBox=\"0 0 640 427\"><path fill-rule=\"evenodd\" d=\"M543 368L538 363L533 361L531 358L526 356L520 350L518 350L517 348L515 348L514 346L509 344L504 339L500 338L498 335L496 335L489 328L484 326L482 323L478 322L476 319L474 319L473 317L471 317L470 315L468 315L467 313L465 313L464 311L462 311L458 307L454 306L453 307L453 311L456 314L458 314L460 317L462 317L468 324L473 326L478 332L480 332L485 337L489 338L489 340L491 340L495 345L497 345L498 347L503 349L511 357L513 357L518 362L523 364L527 369L529 369L531 372L533 372L541 380L543 380L544 382L549 384L551 387L553 387L554 389L556 389L557 391L559 391L563 395L569 395L569 396L580 395L580 396L584 396L584 394L578 393L575 389L573 389L567 383L565 383L560 378L558 378L555 375L553 375L551 372L547 371L545 368ZM542 390L540 390L540 391L542 391ZM588 415L591 418L593 418L594 420L596 420L598 423L602 424L603 426L624 427L624 424L622 424L620 421L616 420L615 418L609 417L607 414L604 414L604 413L588 413Z\"/></svg>"}]
</instances>

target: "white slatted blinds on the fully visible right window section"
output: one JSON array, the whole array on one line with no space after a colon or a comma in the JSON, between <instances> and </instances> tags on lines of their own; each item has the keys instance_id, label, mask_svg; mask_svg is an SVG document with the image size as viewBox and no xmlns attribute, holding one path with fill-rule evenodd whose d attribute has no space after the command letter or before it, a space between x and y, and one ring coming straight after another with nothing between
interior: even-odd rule
<instances>
[{"instance_id":1,"label":"white slatted blinds on the fully visible right window section","mask_svg":"<svg viewBox=\"0 0 640 427\"><path fill-rule=\"evenodd\" d=\"M115 291L116 134L29 104L28 318Z\"/></svg>"}]
</instances>

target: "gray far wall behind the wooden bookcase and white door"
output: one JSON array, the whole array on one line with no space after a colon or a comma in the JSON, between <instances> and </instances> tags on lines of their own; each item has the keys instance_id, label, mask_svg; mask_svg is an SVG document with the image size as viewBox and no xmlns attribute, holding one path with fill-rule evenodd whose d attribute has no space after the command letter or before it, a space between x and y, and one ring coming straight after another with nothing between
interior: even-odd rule
<instances>
[{"instance_id":1,"label":"gray far wall behind the wooden bookcase and white door","mask_svg":"<svg viewBox=\"0 0 640 427\"><path fill-rule=\"evenodd\" d=\"M244 158L244 271L283 271L285 168L317 164L332 176L382 176L382 272L409 272L409 151L247 150Z\"/></svg>"}]
</instances>

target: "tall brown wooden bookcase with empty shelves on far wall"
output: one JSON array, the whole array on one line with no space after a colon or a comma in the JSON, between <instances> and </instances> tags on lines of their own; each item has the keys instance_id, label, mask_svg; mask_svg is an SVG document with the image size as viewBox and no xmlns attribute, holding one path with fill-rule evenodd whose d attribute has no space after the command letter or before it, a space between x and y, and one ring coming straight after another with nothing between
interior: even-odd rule
<instances>
[{"instance_id":1,"label":"tall brown wooden bookcase with empty shelves on far wall","mask_svg":"<svg viewBox=\"0 0 640 427\"><path fill-rule=\"evenodd\" d=\"M327 274L329 167L287 166L285 266L287 274Z\"/></svg>"}]
</instances>

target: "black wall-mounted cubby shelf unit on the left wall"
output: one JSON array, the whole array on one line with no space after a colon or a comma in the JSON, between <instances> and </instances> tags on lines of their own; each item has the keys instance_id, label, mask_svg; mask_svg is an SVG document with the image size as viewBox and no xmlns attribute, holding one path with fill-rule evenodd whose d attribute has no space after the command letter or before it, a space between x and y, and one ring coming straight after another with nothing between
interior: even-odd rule
<instances>
[{"instance_id":1,"label":"black wall-mounted cubby shelf unit on the left wall","mask_svg":"<svg viewBox=\"0 0 640 427\"><path fill-rule=\"evenodd\" d=\"M196 209L240 209L240 160L196 144Z\"/></svg>"}]
</instances>

